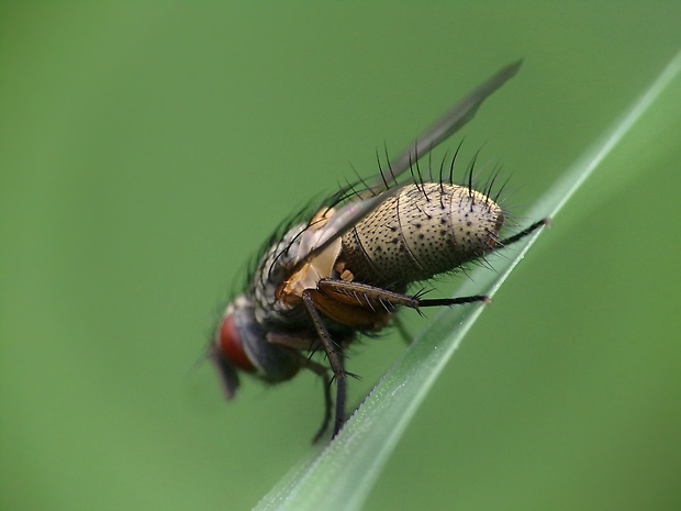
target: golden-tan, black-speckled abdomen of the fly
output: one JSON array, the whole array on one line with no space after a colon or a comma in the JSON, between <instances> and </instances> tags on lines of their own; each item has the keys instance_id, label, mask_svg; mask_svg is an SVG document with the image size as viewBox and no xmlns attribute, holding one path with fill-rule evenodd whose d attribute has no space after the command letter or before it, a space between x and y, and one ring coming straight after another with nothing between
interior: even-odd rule
<instances>
[{"instance_id":1,"label":"golden-tan, black-speckled abdomen of the fly","mask_svg":"<svg viewBox=\"0 0 681 511\"><path fill-rule=\"evenodd\" d=\"M343 236L340 258L358 281L403 286L491 252L503 221L494 201L467 187L410 185Z\"/></svg>"}]
</instances>

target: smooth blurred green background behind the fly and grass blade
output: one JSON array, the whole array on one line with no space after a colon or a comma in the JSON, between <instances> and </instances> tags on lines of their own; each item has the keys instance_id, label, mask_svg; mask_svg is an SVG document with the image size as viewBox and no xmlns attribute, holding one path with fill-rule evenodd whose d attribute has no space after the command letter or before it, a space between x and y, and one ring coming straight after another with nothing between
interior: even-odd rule
<instances>
[{"instance_id":1,"label":"smooth blurred green background behind the fly and grass blade","mask_svg":"<svg viewBox=\"0 0 681 511\"><path fill-rule=\"evenodd\" d=\"M517 57L448 146L502 163L528 220L679 20L676 1L2 2L0 509L249 509L309 448L320 382L226 404L196 363L278 222ZM679 89L496 295L366 509L679 509ZM358 346L353 399L402 349Z\"/></svg>"}]
</instances>

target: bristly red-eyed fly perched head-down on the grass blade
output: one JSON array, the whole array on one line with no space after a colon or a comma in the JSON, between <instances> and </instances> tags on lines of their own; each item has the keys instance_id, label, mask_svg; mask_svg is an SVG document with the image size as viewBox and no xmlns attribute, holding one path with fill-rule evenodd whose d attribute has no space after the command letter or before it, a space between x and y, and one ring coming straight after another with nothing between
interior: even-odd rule
<instances>
[{"instance_id":1,"label":"bristly red-eyed fly perched head-down on the grass blade","mask_svg":"<svg viewBox=\"0 0 681 511\"><path fill-rule=\"evenodd\" d=\"M505 213L488 197L489 190L473 190L472 168L468 185L454 185L453 158L448 177L440 167L439 180L427 182L418 159L472 119L520 65L501 69L468 95L381 169L375 182L340 190L310 220L272 236L247 289L224 311L209 347L227 398L236 393L239 373L277 384L300 369L311 370L324 381L325 413L315 440L328 429L332 415L335 436L344 423L351 376L344 367L344 352L358 333L386 327L401 307L420 310L488 300L424 299L406 290L410 284L521 240L546 220L501 238ZM399 184L409 169L412 181ZM327 365L312 357L317 351Z\"/></svg>"}]
</instances>

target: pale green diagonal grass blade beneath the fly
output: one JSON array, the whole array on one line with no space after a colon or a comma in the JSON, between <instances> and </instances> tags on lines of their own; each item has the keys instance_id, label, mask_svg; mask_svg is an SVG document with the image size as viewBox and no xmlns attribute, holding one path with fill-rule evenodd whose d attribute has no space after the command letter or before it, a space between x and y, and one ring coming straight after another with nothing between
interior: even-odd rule
<instances>
[{"instance_id":1,"label":"pale green diagonal grass blade beneath the fly","mask_svg":"<svg viewBox=\"0 0 681 511\"><path fill-rule=\"evenodd\" d=\"M670 62L633 107L527 213L527 218L555 218L603 159L637 125L681 71L681 53ZM669 102L679 109L678 102ZM660 127L660 126L657 126ZM527 236L494 257L496 271L479 268L457 295L493 296L524 257L540 232ZM256 510L357 510L366 500L388 456L399 442L435 378L460 345L484 306L443 310L386 374L338 436L326 446L313 447L259 502Z\"/></svg>"}]
</instances>

